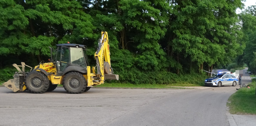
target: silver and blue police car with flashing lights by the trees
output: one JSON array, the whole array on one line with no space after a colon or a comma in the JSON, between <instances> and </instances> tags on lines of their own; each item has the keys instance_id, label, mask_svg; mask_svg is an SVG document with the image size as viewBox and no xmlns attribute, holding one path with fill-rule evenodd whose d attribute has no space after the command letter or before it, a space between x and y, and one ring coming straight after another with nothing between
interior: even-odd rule
<instances>
[{"instance_id":1,"label":"silver and blue police car with flashing lights by the trees","mask_svg":"<svg viewBox=\"0 0 256 126\"><path fill-rule=\"evenodd\" d=\"M219 73L214 75L211 78L206 79L204 84L205 86L213 85L213 86L221 87L224 85L236 86L237 83L238 83L238 78L235 75L231 73Z\"/></svg>"}]
</instances>

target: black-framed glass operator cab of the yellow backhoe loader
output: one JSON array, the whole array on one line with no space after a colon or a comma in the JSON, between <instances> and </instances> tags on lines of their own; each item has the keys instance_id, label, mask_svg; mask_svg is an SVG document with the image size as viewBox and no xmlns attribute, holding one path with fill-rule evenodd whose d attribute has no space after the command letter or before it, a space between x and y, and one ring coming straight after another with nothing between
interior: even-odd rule
<instances>
[{"instance_id":1,"label":"black-framed glass operator cab of the yellow backhoe loader","mask_svg":"<svg viewBox=\"0 0 256 126\"><path fill-rule=\"evenodd\" d=\"M56 67L57 74L64 75L70 71L87 73L89 66L86 55L86 46L79 44L57 44Z\"/></svg>"}]
</instances>

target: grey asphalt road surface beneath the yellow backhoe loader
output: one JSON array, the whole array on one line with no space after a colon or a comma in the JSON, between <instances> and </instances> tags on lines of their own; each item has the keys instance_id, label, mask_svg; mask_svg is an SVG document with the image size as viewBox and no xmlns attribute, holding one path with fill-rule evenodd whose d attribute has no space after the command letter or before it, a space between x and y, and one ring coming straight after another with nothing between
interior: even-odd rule
<instances>
[{"instance_id":1,"label":"grey asphalt road surface beneath the yellow backhoe loader","mask_svg":"<svg viewBox=\"0 0 256 126\"><path fill-rule=\"evenodd\" d=\"M57 88L30 94L0 87L0 126L229 126L226 102L236 88L239 85L92 88L82 94L67 94L64 88Z\"/></svg>"}]
</instances>

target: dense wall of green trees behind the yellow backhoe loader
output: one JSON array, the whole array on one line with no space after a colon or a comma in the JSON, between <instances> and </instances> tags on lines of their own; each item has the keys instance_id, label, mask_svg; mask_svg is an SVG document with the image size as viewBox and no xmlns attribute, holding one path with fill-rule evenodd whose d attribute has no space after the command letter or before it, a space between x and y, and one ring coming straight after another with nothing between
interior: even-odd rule
<instances>
[{"instance_id":1,"label":"dense wall of green trees behind the yellow backhoe loader","mask_svg":"<svg viewBox=\"0 0 256 126\"><path fill-rule=\"evenodd\" d=\"M95 66L107 31L121 82L170 84L243 55L255 21L241 25L253 17L238 18L238 8L241 0L1 0L0 69L37 65L49 58L48 46L67 41L87 45Z\"/></svg>"}]
</instances>

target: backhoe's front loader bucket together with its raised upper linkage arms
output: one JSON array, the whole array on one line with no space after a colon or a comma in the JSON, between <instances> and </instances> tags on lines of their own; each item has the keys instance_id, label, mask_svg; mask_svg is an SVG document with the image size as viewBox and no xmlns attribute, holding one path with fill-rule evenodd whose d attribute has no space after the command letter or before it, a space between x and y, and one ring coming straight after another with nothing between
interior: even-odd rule
<instances>
[{"instance_id":1,"label":"backhoe's front loader bucket together with its raised upper linkage arms","mask_svg":"<svg viewBox=\"0 0 256 126\"><path fill-rule=\"evenodd\" d=\"M17 64L13 64L13 66L19 71L16 72L13 75L13 79L8 80L7 82L3 83L5 87L8 89L11 89L13 92L18 92L18 91L24 91L26 89L26 86L24 85L24 77L25 77L25 63L21 62L20 67L22 67L22 70L19 68ZM28 66L30 67L30 66ZM30 67L32 70L32 67ZM30 71L31 71L30 70Z\"/></svg>"}]
</instances>

